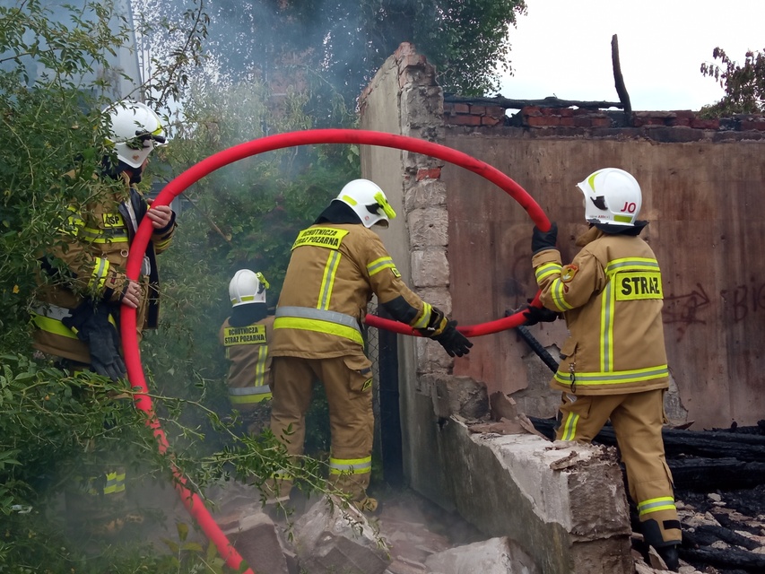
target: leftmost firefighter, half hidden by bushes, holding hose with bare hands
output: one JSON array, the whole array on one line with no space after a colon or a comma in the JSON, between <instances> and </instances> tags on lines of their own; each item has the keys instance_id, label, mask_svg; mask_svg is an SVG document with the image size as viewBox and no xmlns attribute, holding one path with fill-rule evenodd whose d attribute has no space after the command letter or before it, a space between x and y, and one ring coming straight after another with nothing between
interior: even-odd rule
<instances>
[{"instance_id":1,"label":"leftmost firefighter, half hidden by bushes, holding hose with bare hands","mask_svg":"<svg viewBox=\"0 0 765 574\"><path fill-rule=\"evenodd\" d=\"M137 309L137 329L157 326L159 274L155 255L170 244L175 214L169 206L150 207L133 187L148 156L164 143L160 118L134 101L117 102L107 112L117 165L104 158L92 180L90 204L70 205L59 246L40 258L47 281L39 288L32 314L34 348L57 358L68 370L93 370L117 380L126 376L118 335L118 307ZM74 180L72 171L65 178ZM126 261L143 217L152 222L152 240L139 281L126 278ZM109 454L106 455L110 457ZM102 472L103 471L103 472ZM106 460L97 476L81 476L66 492L67 509L91 533L114 532L122 525L125 470ZM84 474L88 474L87 472Z\"/></svg>"}]
</instances>

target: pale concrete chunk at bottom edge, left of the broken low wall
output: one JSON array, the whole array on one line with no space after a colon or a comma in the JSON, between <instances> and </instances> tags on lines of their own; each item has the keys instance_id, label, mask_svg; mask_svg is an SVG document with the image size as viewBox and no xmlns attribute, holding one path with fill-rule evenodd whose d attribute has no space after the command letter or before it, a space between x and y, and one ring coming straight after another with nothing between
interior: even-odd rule
<instances>
[{"instance_id":1,"label":"pale concrete chunk at bottom edge, left of the broken low wall","mask_svg":"<svg viewBox=\"0 0 765 574\"><path fill-rule=\"evenodd\" d=\"M531 558L509 538L491 538L433 554L425 566L439 574L541 574Z\"/></svg>"}]
</instances>

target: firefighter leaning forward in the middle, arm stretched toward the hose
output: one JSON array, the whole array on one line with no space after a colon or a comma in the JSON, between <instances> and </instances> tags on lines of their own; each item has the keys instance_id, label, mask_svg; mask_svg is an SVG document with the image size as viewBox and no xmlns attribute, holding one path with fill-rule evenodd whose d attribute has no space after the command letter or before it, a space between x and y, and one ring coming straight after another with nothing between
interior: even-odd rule
<instances>
[{"instance_id":1,"label":"firefighter leaning forward in the middle, arm stretched toward the hose","mask_svg":"<svg viewBox=\"0 0 765 574\"><path fill-rule=\"evenodd\" d=\"M326 389L331 431L330 483L373 512L366 494L372 463L374 414L371 362L361 331L372 294L396 320L420 330L461 357L473 346L439 309L410 291L373 225L396 217L376 184L355 179L317 221L300 231L276 308L271 430L300 455L311 386ZM291 431L288 432L288 427ZM291 484L282 483L280 498Z\"/></svg>"}]
</instances>

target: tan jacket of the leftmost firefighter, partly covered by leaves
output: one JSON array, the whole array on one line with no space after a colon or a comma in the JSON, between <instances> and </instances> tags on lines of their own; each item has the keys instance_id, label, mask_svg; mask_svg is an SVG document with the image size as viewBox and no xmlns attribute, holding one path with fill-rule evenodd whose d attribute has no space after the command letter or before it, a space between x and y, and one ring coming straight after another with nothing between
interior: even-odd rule
<instances>
[{"instance_id":1,"label":"tan jacket of the leftmost firefighter, partly covered by leaves","mask_svg":"<svg viewBox=\"0 0 765 574\"><path fill-rule=\"evenodd\" d=\"M74 177L74 172L66 174ZM43 273L53 274L52 284L39 290L39 302L32 314L34 348L57 357L90 364L87 344L80 341L61 319L88 296L117 303L126 283L126 262L135 230L148 210L143 196L130 186L127 174L120 174L124 187L102 183L98 203L77 209L69 206L68 224L61 230L60 245L42 257ZM99 185L98 183L96 185ZM159 274L155 254L164 251L175 232L175 217L166 229L154 230L146 249L140 274L143 300L137 309L137 325L156 328L159 314ZM60 259L65 270L56 272L49 256ZM65 276L61 276L65 275Z\"/></svg>"}]
</instances>

